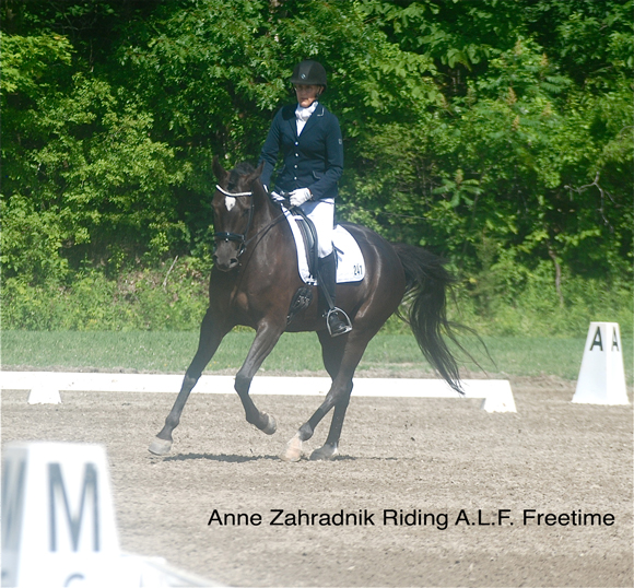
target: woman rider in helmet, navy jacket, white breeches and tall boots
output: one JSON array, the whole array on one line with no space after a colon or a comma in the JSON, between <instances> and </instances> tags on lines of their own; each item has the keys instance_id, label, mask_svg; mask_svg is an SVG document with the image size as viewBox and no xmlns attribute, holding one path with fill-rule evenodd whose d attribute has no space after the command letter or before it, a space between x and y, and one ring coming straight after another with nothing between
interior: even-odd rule
<instances>
[{"instance_id":1,"label":"woman rider in helmet, navy jacket, white breeches and tall boots","mask_svg":"<svg viewBox=\"0 0 634 588\"><path fill-rule=\"evenodd\" d=\"M291 83L297 104L284 106L275 115L260 154L265 163L262 184L270 185L281 154L283 167L275 188L291 193L291 205L300 207L317 230L320 307L332 337L351 330L334 307L337 258L332 247L337 183L343 172L343 142L337 117L319 104L326 90L326 70L317 61L302 61L293 70ZM324 295L324 290L329 296ZM328 301L330 298L330 301Z\"/></svg>"}]
</instances>

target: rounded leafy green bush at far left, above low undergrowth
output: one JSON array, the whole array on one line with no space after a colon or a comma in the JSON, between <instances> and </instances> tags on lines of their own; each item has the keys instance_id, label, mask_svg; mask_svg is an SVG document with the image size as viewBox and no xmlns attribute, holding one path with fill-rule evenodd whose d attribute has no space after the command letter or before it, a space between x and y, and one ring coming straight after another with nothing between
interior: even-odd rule
<instances>
[{"instance_id":1,"label":"rounded leafy green bush at far left, above low undergrowth","mask_svg":"<svg viewBox=\"0 0 634 588\"><path fill-rule=\"evenodd\" d=\"M3 143L7 277L42 283L51 269L77 269L86 258L117 271L117 252L158 260L188 243L173 197L188 166L151 139L151 115L107 82L77 74L68 93L11 115L4 133L20 142ZM33 122L24 128L26 117Z\"/></svg>"}]
</instances>

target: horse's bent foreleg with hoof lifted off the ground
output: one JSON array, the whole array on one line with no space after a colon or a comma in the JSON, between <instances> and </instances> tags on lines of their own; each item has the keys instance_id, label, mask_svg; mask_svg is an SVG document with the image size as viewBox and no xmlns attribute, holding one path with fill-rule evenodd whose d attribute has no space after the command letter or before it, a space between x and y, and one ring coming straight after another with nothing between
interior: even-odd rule
<instances>
[{"instance_id":1,"label":"horse's bent foreleg with hoof lifted off the ground","mask_svg":"<svg viewBox=\"0 0 634 588\"><path fill-rule=\"evenodd\" d=\"M257 409L249 396L249 388L254 376L278 343L283 330L283 327L273 322L260 325L247 358L235 378L235 390L242 400L247 421L267 435L272 435L278 425L270 414Z\"/></svg>"}]
</instances>

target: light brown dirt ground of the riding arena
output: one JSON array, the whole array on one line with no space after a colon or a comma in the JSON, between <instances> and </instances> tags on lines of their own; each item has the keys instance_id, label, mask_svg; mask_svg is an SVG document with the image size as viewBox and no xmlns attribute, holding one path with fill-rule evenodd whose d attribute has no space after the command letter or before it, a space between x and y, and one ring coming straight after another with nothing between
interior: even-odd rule
<instances>
[{"instance_id":1,"label":"light brown dirt ground of the riding arena","mask_svg":"<svg viewBox=\"0 0 634 588\"><path fill-rule=\"evenodd\" d=\"M104 444L122 548L230 586L631 587L632 405L573 404L574 383L553 378L512 388L517 413L503 414L477 400L353 396L329 462L277 457L310 397L256 397L278 420L268 437L237 397L195 393L161 458L148 445L175 395L61 392L61 404L30 405L7 391L2 442ZM280 510L278 521L319 517L271 525ZM568 524L525 524L525 511ZM572 525L579 511L602 524ZM426 525L395 525L411 513ZM227 514L261 524L220 525ZM342 514L361 524L336 525Z\"/></svg>"}]
</instances>

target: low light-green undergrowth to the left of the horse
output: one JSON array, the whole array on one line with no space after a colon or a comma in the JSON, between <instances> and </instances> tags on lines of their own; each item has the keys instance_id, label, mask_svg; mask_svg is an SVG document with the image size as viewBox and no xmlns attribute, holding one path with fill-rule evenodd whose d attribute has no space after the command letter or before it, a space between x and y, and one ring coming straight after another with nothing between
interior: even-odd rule
<instances>
[{"instance_id":1,"label":"low light-green undergrowth to the left of the horse","mask_svg":"<svg viewBox=\"0 0 634 588\"><path fill-rule=\"evenodd\" d=\"M3 329L196 330L208 306L206 280L196 259L121 272L107 279L87 271L68 286L33 286L5 279L0 308Z\"/></svg>"}]
</instances>

